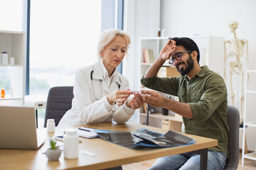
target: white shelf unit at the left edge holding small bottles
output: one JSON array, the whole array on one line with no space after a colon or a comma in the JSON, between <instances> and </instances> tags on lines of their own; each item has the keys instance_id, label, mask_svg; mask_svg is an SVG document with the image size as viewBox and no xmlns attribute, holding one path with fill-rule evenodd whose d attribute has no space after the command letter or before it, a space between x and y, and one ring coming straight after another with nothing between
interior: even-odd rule
<instances>
[{"instance_id":1,"label":"white shelf unit at the left edge holding small bottles","mask_svg":"<svg viewBox=\"0 0 256 170\"><path fill-rule=\"evenodd\" d=\"M0 52L14 57L15 63L0 64L0 69L8 75L10 91L0 98L0 106L23 106L25 95L26 33L0 30ZM1 63L1 62L0 62ZM5 87L1 87L6 89Z\"/></svg>"}]
</instances>

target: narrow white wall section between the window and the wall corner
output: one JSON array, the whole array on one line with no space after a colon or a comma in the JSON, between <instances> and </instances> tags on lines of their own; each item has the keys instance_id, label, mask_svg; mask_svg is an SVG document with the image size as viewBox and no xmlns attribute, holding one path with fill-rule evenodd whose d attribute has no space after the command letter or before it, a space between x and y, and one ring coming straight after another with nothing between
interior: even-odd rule
<instances>
[{"instance_id":1,"label":"narrow white wall section between the window and the wall corner","mask_svg":"<svg viewBox=\"0 0 256 170\"><path fill-rule=\"evenodd\" d=\"M129 80L132 91L139 90L139 38L157 35L160 28L160 0L125 0L124 31L131 37L128 60L123 60L123 74ZM139 123L139 110L132 122Z\"/></svg>"}]
</instances>

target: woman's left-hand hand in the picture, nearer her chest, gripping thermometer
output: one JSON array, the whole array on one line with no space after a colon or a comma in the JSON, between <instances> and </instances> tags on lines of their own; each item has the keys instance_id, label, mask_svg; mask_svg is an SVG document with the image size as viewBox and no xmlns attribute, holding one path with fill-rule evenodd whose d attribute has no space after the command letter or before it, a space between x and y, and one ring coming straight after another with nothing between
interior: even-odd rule
<instances>
[{"instance_id":1,"label":"woman's left-hand hand in the picture, nearer her chest, gripping thermometer","mask_svg":"<svg viewBox=\"0 0 256 170\"><path fill-rule=\"evenodd\" d=\"M113 105L114 102L117 104L117 106L122 106L125 101L127 101L127 98L133 94L132 91L125 90L125 91L112 91L110 94L107 94L107 101Z\"/></svg>"}]
</instances>

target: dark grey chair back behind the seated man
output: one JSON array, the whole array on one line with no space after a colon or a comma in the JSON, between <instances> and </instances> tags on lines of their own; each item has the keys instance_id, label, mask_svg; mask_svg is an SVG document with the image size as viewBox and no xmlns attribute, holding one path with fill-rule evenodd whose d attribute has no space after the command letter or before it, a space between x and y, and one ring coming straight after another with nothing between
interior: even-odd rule
<instances>
[{"instance_id":1,"label":"dark grey chair back behind the seated man","mask_svg":"<svg viewBox=\"0 0 256 170\"><path fill-rule=\"evenodd\" d=\"M237 169L239 163L239 124L240 114L238 108L228 106L228 162L225 170Z\"/></svg>"}]
</instances>

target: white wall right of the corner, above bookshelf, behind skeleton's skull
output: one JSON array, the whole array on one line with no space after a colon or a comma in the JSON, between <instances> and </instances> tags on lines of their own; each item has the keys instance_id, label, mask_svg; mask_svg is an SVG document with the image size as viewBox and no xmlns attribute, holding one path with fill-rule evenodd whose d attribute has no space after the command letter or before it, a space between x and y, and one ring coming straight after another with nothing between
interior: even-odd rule
<instances>
[{"instance_id":1,"label":"white wall right of the corner, above bookshelf, behind skeleton's skull","mask_svg":"<svg viewBox=\"0 0 256 170\"><path fill-rule=\"evenodd\" d=\"M250 69L256 69L256 1L254 0L161 0L161 28L166 35L217 35L233 39L228 24L239 22L240 39L249 40Z\"/></svg>"}]
</instances>

